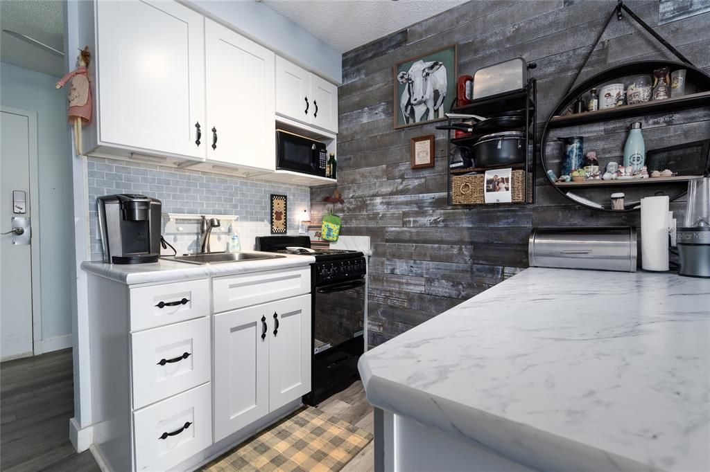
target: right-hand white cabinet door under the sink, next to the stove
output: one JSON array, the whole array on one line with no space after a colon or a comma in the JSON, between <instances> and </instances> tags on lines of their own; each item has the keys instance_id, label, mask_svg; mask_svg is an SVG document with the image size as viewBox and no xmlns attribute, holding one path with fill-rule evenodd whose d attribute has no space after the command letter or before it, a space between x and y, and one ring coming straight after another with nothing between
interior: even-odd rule
<instances>
[{"instance_id":1,"label":"right-hand white cabinet door under the sink, next to the stove","mask_svg":"<svg viewBox=\"0 0 710 472\"><path fill-rule=\"evenodd\" d=\"M269 303L269 410L310 392L311 296ZM278 328L277 328L278 326Z\"/></svg>"}]
</instances>

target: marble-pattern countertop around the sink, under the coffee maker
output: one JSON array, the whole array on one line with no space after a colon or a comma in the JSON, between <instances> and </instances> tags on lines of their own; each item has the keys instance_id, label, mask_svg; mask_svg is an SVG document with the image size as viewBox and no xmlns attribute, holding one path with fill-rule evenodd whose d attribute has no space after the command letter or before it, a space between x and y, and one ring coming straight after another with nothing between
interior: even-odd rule
<instances>
[{"instance_id":1,"label":"marble-pattern countertop around the sink, under the coffee maker","mask_svg":"<svg viewBox=\"0 0 710 472\"><path fill-rule=\"evenodd\" d=\"M243 251L252 252L253 251ZM263 254L263 253L257 253ZM226 262L222 264L187 264L160 259L153 264L106 264L105 262L82 262L82 269L92 274L107 277L127 285L136 283L163 283L202 277L248 274L249 272L288 269L308 266L315 257L283 254L278 259Z\"/></svg>"}]
</instances>

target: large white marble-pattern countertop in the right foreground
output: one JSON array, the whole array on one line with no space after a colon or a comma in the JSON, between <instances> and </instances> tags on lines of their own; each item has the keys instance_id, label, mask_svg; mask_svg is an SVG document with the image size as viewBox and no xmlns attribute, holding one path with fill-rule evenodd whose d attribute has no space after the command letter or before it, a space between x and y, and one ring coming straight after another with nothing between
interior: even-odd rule
<instances>
[{"instance_id":1,"label":"large white marble-pattern countertop in the right foreground","mask_svg":"<svg viewBox=\"0 0 710 472\"><path fill-rule=\"evenodd\" d=\"M373 405L545 471L710 470L710 281L526 269L364 354Z\"/></svg>"}]
</instances>

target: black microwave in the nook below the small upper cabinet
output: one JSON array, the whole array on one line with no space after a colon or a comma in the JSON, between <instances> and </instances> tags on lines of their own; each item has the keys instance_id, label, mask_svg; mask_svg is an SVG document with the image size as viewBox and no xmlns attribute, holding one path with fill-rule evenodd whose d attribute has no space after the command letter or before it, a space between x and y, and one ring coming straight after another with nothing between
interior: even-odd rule
<instances>
[{"instance_id":1,"label":"black microwave in the nook below the small upper cabinet","mask_svg":"<svg viewBox=\"0 0 710 472\"><path fill-rule=\"evenodd\" d=\"M276 130L276 169L325 176L325 144L284 130Z\"/></svg>"}]
</instances>

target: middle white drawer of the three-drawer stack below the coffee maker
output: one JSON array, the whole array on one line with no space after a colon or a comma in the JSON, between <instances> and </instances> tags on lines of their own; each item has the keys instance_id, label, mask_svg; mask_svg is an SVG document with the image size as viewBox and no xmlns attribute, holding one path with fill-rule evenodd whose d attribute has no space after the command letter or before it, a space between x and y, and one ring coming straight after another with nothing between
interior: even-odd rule
<instances>
[{"instance_id":1,"label":"middle white drawer of the three-drawer stack below the coffee maker","mask_svg":"<svg viewBox=\"0 0 710 472\"><path fill-rule=\"evenodd\" d=\"M133 408L209 382L209 318L131 335Z\"/></svg>"}]
</instances>

